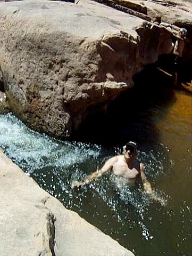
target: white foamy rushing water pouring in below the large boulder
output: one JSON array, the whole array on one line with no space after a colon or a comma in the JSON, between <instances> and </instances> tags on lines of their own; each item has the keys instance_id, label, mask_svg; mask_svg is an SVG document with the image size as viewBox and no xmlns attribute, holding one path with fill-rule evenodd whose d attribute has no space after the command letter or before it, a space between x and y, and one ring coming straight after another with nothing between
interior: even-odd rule
<instances>
[{"instance_id":1,"label":"white foamy rushing water pouring in below the large boulder","mask_svg":"<svg viewBox=\"0 0 192 256\"><path fill-rule=\"evenodd\" d=\"M97 157L101 147L54 140L31 131L12 114L0 115L0 145L26 172L47 166L69 166Z\"/></svg>"}]
</instances>

